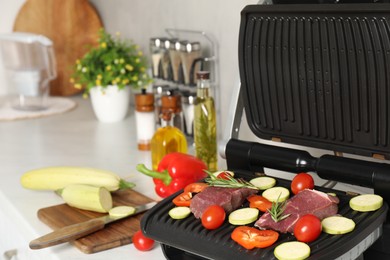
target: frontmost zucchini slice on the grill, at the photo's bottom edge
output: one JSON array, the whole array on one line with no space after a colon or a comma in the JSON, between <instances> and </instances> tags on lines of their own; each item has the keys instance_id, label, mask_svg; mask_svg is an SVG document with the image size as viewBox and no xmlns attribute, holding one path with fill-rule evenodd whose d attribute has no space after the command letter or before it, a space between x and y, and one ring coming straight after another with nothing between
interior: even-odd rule
<instances>
[{"instance_id":1,"label":"frontmost zucchini slice on the grill, at the photo's bottom edge","mask_svg":"<svg viewBox=\"0 0 390 260\"><path fill-rule=\"evenodd\" d=\"M310 256L310 247L303 242L285 242L275 248L274 255L279 260L303 260Z\"/></svg>"}]
</instances>

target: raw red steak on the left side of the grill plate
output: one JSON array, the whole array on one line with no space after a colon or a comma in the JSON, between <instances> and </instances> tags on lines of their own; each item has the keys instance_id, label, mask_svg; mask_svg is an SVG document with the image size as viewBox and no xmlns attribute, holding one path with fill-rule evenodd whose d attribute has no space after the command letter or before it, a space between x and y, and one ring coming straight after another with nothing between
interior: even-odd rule
<instances>
[{"instance_id":1,"label":"raw red steak on the left side of the grill plate","mask_svg":"<svg viewBox=\"0 0 390 260\"><path fill-rule=\"evenodd\" d=\"M257 190L249 188L210 186L192 198L190 209L196 218L202 217L203 212L211 205L219 205L229 214L240 207L248 196L256 193Z\"/></svg>"}]
</instances>

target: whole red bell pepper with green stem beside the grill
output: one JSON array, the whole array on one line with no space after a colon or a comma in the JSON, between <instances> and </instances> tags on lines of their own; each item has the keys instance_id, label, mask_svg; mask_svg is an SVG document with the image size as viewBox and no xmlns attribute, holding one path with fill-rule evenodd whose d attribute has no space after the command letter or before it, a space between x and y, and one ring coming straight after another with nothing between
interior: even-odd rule
<instances>
[{"instance_id":1,"label":"whole red bell pepper with green stem beside the grill","mask_svg":"<svg viewBox=\"0 0 390 260\"><path fill-rule=\"evenodd\" d=\"M206 169L206 164L195 156L178 152L165 155L157 171L146 168L144 164L137 165L139 172L153 177L155 191L162 198L205 178Z\"/></svg>"}]
</instances>

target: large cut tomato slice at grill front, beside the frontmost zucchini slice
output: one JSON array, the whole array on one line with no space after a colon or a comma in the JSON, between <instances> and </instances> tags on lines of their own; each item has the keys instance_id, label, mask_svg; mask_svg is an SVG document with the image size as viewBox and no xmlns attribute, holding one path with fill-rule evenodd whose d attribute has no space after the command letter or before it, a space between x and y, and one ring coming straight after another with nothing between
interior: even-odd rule
<instances>
[{"instance_id":1,"label":"large cut tomato slice at grill front, beside the frontmost zucchini slice","mask_svg":"<svg viewBox=\"0 0 390 260\"><path fill-rule=\"evenodd\" d=\"M279 233L273 230L239 226L233 230L230 237L246 249L253 249L271 246L278 240Z\"/></svg>"}]
</instances>

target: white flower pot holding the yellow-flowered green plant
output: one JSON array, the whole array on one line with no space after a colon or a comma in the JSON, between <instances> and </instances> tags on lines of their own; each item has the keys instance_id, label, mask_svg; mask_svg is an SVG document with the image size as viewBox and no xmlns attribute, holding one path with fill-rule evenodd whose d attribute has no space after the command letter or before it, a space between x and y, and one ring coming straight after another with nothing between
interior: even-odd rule
<instances>
[{"instance_id":1,"label":"white flower pot holding the yellow-flowered green plant","mask_svg":"<svg viewBox=\"0 0 390 260\"><path fill-rule=\"evenodd\" d=\"M89 93L93 111L99 121L113 123L126 117L130 104L130 87L124 89L118 89L115 85L107 88L94 87Z\"/></svg>"}]
</instances>

